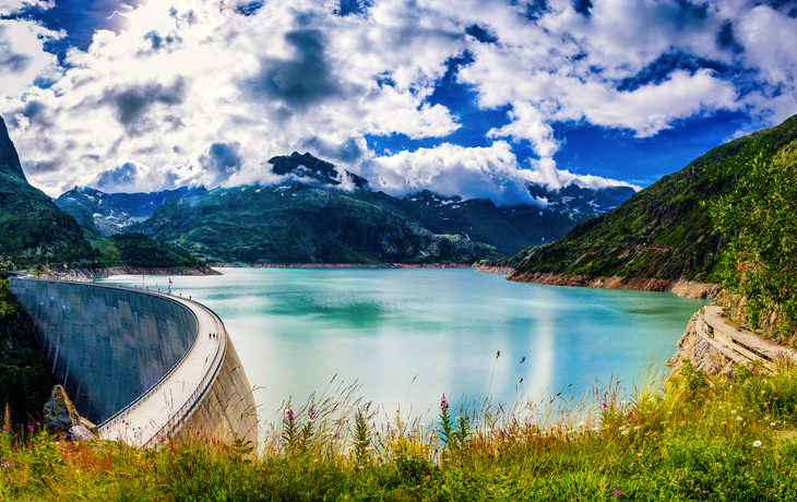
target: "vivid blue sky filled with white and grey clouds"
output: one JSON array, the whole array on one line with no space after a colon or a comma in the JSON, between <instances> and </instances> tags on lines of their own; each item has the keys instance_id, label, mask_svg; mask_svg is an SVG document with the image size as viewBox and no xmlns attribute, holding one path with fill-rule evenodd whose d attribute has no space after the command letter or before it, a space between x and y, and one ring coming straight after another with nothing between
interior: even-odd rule
<instances>
[{"instance_id":1,"label":"vivid blue sky filled with white and grey clouds","mask_svg":"<svg viewBox=\"0 0 797 502\"><path fill-rule=\"evenodd\" d=\"M0 0L0 116L51 195L293 151L394 195L645 187L796 113L796 75L780 0Z\"/></svg>"}]
</instances>

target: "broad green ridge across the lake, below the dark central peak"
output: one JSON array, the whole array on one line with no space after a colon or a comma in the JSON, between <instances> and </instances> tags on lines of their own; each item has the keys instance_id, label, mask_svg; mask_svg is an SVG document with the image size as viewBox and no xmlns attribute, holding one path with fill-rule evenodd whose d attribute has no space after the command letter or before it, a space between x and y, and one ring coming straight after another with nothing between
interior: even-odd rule
<instances>
[{"instance_id":1,"label":"broad green ridge across the lake, below the dark central peak","mask_svg":"<svg viewBox=\"0 0 797 502\"><path fill-rule=\"evenodd\" d=\"M217 263L473 263L495 248L435 235L344 192L287 187L215 189L170 202L131 227Z\"/></svg>"}]
</instances>

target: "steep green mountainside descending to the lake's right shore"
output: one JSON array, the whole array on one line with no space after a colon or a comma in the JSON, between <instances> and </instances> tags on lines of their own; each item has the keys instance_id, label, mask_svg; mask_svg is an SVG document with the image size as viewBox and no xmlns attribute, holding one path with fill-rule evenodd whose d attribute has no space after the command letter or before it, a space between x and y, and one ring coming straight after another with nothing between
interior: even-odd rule
<instances>
[{"instance_id":1,"label":"steep green mountainside descending to the lake's right shore","mask_svg":"<svg viewBox=\"0 0 797 502\"><path fill-rule=\"evenodd\" d=\"M716 282L727 243L701 205L727 192L757 152L776 155L797 138L797 116L718 146L619 207L575 225L556 242L495 264L521 274Z\"/></svg>"}]
</instances>

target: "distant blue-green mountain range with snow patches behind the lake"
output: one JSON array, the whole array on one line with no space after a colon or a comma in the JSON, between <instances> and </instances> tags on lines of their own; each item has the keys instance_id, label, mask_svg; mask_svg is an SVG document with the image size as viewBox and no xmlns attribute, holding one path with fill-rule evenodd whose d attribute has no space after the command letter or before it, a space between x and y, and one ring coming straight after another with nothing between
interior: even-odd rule
<instances>
[{"instance_id":1,"label":"distant blue-green mountain range with snow patches behind the lake","mask_svg":"<svg viewBox=\"0 0 797 502\"><path fill-rule=\"evenodd\" d=\"M75 187L56 203L95 234L140 231L211 263L412 264L509 255L557 239L634 193L630 187L530 186L544 206L499 207L487 199L463 201L429 191L394 198L309 153L269 163L285 177L283 184L146 194Z\"/></svg>"}]
</instances>

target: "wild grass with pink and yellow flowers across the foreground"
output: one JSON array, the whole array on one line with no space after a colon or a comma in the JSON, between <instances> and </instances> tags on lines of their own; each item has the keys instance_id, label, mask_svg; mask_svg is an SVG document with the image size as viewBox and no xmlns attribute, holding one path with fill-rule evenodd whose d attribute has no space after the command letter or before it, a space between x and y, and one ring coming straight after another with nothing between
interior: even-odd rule
<instances>
[{"instance_id":1,"label":"wild grass with pink and yellow flowers across the foreground","mask_svg":"<svg viewBox=\"0 0 797 502\"><path fill-rule=\"evenodd\" d=\"M353 399L286 406L251 445L202 434L157 451L69 443L5 422L0 500L794 500L797 368L739 368L736 381L690 364L628 403L376 414Z\"/></svg>"}]
</instances>

